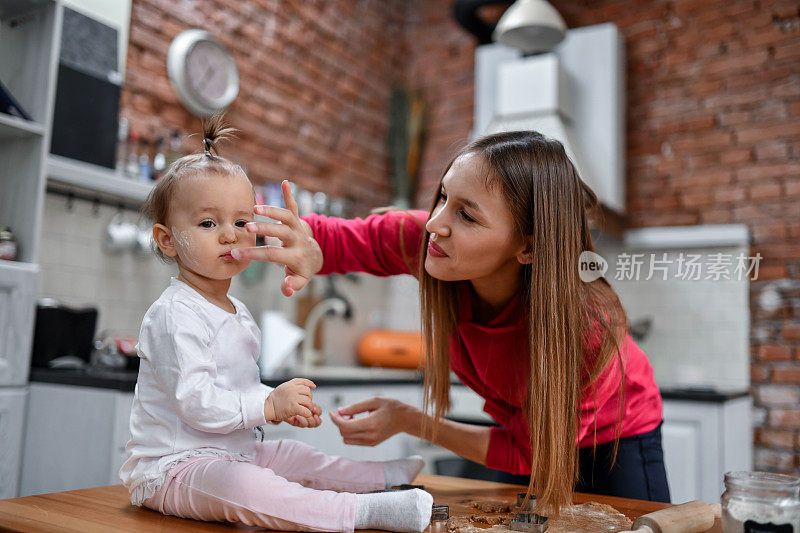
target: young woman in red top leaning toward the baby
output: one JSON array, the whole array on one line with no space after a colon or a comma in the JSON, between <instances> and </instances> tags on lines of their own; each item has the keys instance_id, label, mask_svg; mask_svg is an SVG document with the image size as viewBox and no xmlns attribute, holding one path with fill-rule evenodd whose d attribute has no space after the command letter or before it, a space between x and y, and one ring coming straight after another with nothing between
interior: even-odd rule
<instances>
[{"instance_id":1,"label":"young woman in red top leaning toward the baby","mask_svg":"<svg viewBox=\"0 0 800 533\"><path fill-rule=\"evenodd\" d=\"M237 253L286 265L284 294L317 273L420 282L426 409L389 398L342 408L331 418L344 442L428 439L526 476L545 513L558 514L576 488L669 501L658 386L611 287L580 280L598 202L561 143L530 131L474 141L447 166L428 213L301 220L283 186L287 209L256 206L282 224L248 224L283 246ZM497 426L443 418L451 370Z\"/></svg>"}]
</instances>

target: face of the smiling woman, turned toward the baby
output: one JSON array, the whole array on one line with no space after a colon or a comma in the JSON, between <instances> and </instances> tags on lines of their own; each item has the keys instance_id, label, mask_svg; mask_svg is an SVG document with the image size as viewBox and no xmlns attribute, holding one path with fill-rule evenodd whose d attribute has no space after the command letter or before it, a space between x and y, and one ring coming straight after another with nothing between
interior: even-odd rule
<instances>
[{"instance_id":1,"label":"face of the smiling woman, turned toward the baby","mask_svg":"<svg viewBox=\"0 0 800 533\"><path fill-rule=\"evenodd\" d=\"M476 154L455 160L426 229L431 233L425 271L442 281L470 280L491 287L518 283L525 242L498 188L487 189L488 165Z\"/></svg>"}]
</instances>

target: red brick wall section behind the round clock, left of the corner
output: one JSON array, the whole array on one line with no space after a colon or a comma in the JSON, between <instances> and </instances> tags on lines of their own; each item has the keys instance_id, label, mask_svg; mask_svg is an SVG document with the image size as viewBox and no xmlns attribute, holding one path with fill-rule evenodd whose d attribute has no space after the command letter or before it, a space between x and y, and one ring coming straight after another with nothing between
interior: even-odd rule
<instances>
[{"instance_id":1,"label":"red brick wall section behind the round clock, left of the corner","mask_svg":"<svg viewBox=\"0 0 800 533\"><path fill-rule=\"evenodd\" d=\"M400 0L134 0L121 113L150 140L174 128L197 132L165 59L181 31L208 30L240 73L228 119L241 132L223 155L256 183L288 177L355 200L358 213L386 205L388 98L402 81L404 9ZM200 149L197 137L185 144Z\"/></svg>"}]
</instances>

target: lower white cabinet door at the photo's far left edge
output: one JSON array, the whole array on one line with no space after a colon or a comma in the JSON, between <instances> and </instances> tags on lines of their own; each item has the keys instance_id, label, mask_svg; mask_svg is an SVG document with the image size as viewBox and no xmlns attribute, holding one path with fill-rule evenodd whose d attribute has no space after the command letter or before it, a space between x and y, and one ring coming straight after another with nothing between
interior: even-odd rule
<instances>
[{"instance_id":1,"label":"lower white cabinet door at the photo's far left edge","mask_svg":"<svg viewBox=\"0 0 800 533\"><path fill-rule=\"evenodd\" d=\"M18 496L27 394L23 387L0 389L0 500Z\"/></svg>"}]
</instances>

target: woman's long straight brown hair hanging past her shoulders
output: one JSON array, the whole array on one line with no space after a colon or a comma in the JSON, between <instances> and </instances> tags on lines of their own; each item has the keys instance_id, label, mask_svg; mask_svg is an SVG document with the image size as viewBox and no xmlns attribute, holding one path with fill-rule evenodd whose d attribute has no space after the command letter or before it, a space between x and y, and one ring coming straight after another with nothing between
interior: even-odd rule
<instances>
[{"instance_id":1,"label":"woman's long straight brown hair hanging past her shoulders","mask_svg":"<svg viewBox=\"0 0 800 533\"><path fill-rule=\"evenodd\" d=\"M599 204L580 179L563 145L533 131L489 135L462 149L489 169L487 187L499 190L514 219L517 235L532 243L532 263L524 265L520 290L529 321L530 375L522 406L531 444L528 494L542 514L557 516L571 503L578 476L578 405L582 390L609 365L619 362L619 441L624 365L619 346L626 334L625 312L605 279L580 280L578 258L593 251L590 213ZM432 215L441 181L431 206ZM449 339L460 305L458 282L441 281L425 271L430 233L425 232L419 261L420 305L425 344L425 409L435 419L449 409ZM587 342L600 335L587 357ZM594 351L594 350L592 350ZM524 352L523 352L524 353ZM614 357L617 361L612 361ZM596 429L596 428L595 428ZM435 424L432 431L435 432Z\"/></svg>"}]
</instances>

